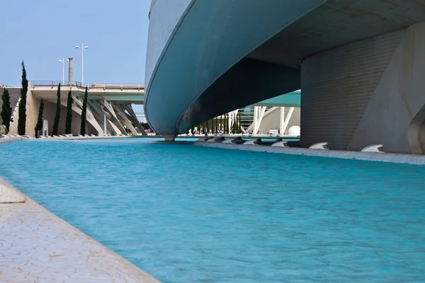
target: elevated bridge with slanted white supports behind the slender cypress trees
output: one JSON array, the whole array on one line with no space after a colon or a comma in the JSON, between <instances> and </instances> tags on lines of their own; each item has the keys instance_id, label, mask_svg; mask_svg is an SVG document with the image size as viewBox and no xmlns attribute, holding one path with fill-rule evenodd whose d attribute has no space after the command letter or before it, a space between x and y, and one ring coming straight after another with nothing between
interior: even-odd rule
<instances>
[{"instance_id":1,"label":"elevated bridge with slanted white supports behind the slender cypress trees","mask_svg":"<svg viewBox=\"0 0 425 283\"><path fill-rule=\"evenodd\" d=\"M84 93L87 88L88 103L86 113L87 134L98 135L145 135L145 129L140 124L132 104L143 104L145 99L145 86L140 83L110 84L110 83L86 83L70 81L62 85L62 81L30 81L27 93L27 123L26 134L35 134L35 124L38 117L40 100L44 101L45 107L43 120L47 120L51 128L55 120L57 108L57 88L60 88L61 117L58 134L65 132L65 119L67 114L68 93L72 93L72 134L80 133L81 112L83 108ZM15 107L11 123L11 133L17 133L18 108Z\"/></svg>"}]
</instances>

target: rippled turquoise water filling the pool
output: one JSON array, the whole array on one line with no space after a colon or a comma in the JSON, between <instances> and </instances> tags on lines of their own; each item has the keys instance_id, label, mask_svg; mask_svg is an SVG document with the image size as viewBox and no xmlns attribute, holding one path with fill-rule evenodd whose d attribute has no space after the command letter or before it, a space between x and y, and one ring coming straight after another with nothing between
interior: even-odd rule
<instances>
[{"instance_id":1,"label":"rippled turquoise water filling the pool","mask_svg":"<svg viewBox=\"0 0 425 283\"><path fill-rule=\"evenodd\" d=\"M0 173L162 282L425 282L425 167L191 144L4 144Z\"/></svg>"}]
</instances>

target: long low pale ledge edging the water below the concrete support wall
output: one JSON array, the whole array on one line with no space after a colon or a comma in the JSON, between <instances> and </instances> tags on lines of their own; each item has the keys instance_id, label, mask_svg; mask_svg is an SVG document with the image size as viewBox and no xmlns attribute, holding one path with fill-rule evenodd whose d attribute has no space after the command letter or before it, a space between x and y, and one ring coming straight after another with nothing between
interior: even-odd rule
<instances>
[{"instance_id":1,"label":"long low pale ledge edging the water below the concrete support wall","mask_svg":"<svg viewBox=\"0 0 425 283\"><path fill-rule=\"evenodd\" d=\"M391 163L406 163L415 165L425 165L425 155L414 154L376 154L375 152L361 152L361 151L334 151L322 149L303 149L297 147L280 147L280 146L251 146L246 144L215 144L207 143L205 141L196 141L193 143L195 146L208 146L220 149L239 149L246 151L261 151L276 154L295 154L305 156L319 156L330 158L343 158L343 159L356 159L364 161L381 161Z\"/></svg>"}]
</instances>

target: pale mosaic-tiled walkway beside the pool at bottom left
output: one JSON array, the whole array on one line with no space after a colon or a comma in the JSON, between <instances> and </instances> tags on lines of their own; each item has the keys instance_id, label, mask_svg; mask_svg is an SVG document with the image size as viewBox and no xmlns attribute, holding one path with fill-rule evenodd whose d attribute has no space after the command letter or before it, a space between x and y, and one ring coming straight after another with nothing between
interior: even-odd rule
<instances>
[{"instance_id":1,"label":"pale mosaic-tiled walkway beside the pool at bottom left","mask_svg":"<svg viewBox=\"0 0 425 283\"><path fill-rule=\"evenodd\" d=\"M159 281L27 197L0 204L0 282Z\"/></svg>"}]
</instances>

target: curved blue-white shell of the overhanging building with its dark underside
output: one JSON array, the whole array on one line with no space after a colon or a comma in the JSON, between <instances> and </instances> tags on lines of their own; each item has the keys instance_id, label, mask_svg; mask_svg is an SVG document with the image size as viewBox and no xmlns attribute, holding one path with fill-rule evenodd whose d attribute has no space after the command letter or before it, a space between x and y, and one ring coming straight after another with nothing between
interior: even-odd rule
<instances>
[{"instance_id":1,"label":"curved blue-white shell of the overhanging building with its dark underside","mask_svg":"<svg viewBox=\"0 0 425 283\"><path fill-rule=\"evenodd\" d=\"M157 0L150 13L145 113L175 135L300 88L300 70L245 58L324 0Z\"/></svg>"}]
</instances>

